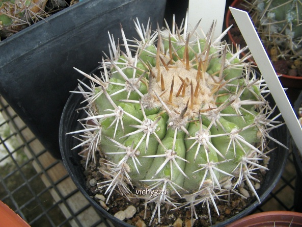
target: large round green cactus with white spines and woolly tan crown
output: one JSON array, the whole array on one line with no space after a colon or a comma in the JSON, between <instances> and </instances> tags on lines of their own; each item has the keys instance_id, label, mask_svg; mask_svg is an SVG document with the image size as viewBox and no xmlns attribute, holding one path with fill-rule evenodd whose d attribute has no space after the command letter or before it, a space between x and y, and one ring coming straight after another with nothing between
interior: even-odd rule
<instances>
[{"instance_id":1,"label":"large round green cactus with white spines and woolly tan crown","mask_svg":"<svg viewBox=\"0 0 302 227\"><path fill-rule=\"evenodd\" d=\"M276 141L269 132L282 123L270 119L274 108L263 96L269 91L244 62L250 56L239 59L246 48L232 54L221 42L227 31L213 39L213 23L202 38L199 24L187 31L187 17L180 27L166 26L151 32L136 21L140 39L126 39L121 28L123 45L109 35L101 77L76 69L90 79L78 86L87 117L79 119L83 130L68 134L79 134L74 148L82 148L87 164L100 164L106 203L118 190L146 201L150 224L156 213L160 222L165 205L189 208L192 219L195 206L206 206L211 221L211 207L219 214L215 201L241 195L243 182L260 200L255 171L267 170L265 147Z\"/></svg>"}]
</instances>

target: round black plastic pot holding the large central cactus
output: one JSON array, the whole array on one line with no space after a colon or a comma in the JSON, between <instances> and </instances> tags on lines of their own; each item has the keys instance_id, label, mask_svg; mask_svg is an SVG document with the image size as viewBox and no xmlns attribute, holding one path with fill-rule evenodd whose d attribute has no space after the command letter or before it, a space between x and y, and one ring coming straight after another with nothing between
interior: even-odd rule
<instances>
[{"instance_id":1,"label":"round black plastic pot holding the large central cactus","mask_svg":"<svg viewBox=\"0 0 302 227\"><path fill-rule=\"evenodd\" d=\"M85 105L80 104L81 102L83 102L83 100L84 99L80 94L72 93L63 110L60 123L60 148L63 162L75 185L78 187L81 193L85 195L85 197L90 201L90 203L96 208L97 211L99 211L105 218L111 220L116 226L132 226L127 224L126 222L120 221L113 215L109 214L92 197L90 197L92 195L90 194L89 189L86 186L84 167L80 164L81 157L77 155L80 152L80 148L71 150L72 147L78 144L78 140L74 139L71 135L66 135L66 133L82 129L77 119L84 118L86 114L84 113L84 111L77 112L75 110L77 108L80 108L82 105ZM272 98L270 98L270 105L275 105ZM277 111L274 114L277 114ZM271 132L271 135L274 138L277 138L278 141L286 144L286 137L284 137L284 135L286 135L285 125L273 130ZM269 144L269 147L277 147L277 149L270 154L270 161L268 165L268 168L270 170L265 174L261 188L258 190L258 195L261 201L263 201L268 196L268 194L278 183L288 157L288 150L284 147L272 142ZM254 209L256 209L258 205L259 201L255 198L251 201L251 204L246 207L246 209L233 216L232 218L213 226L226 226L227 224L250 214Z\"/></svg>"}]
</instances>

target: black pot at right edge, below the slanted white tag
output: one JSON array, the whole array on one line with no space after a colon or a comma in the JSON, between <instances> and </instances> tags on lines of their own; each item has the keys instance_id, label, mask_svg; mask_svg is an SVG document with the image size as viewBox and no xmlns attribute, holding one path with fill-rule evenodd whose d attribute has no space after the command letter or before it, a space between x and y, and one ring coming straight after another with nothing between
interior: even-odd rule
<instances>
[{"instance_id":1,"label":"black pot at right edge, below the slanted white tag","mask_svg":"<svg viewBox=\"0 0 302 227\"><path fill-rule=\"evenodd\" d=\"M302 104L302 92L299 94L297 100L294 103L294 110L297 116L301 104ZM302 212L302 160L295 142L293 140L291 141L292 141L293 161L297 173L296 181L295 181L294 209L297 212Z\"/></svg>"}]
</instances>

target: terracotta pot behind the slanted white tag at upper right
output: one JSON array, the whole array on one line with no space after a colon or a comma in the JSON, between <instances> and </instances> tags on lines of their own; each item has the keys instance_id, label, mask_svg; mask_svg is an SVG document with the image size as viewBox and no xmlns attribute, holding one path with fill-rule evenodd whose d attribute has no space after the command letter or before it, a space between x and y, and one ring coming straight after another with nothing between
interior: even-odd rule
<instances>
[{"instance_id":1,"label":"terracotta pot behind the slanted white tag at upper right","mask_svg":"<svg viewBox=\"0 0 302 227\"><path fill-rule=\"evenodd\" d=\"M234 0L233 3L231 4L231 7L237 8L237 9L243 9L243 7L240 6L240 4L242 2L243 2L242 0ZM226 14L226 19L225 19L226 28L229 28L232 25L231 19L232 19L232 13L230 10L228 10L227 14ZM233 24L232 29L237 30L236 24ZM239 34L238 34L238 36L239 36ZM236 41L236 38L233 37L231 31L228 31L228 38L229 38L229 41L232 42L234 45L238 44ZM245 45L242 43L239 43L239 44L241 47L243 47ZM242 55L244 55L244 53L242 53ZM277 72L277 74L281 75L281 73L278 73L278 72ZM284 88L288 88L286 91L286 94L289 97L291 103L294 103L294 101L298 97L299 92L302 89L302 77L294 77L292 75L282 74L282 77L280 77L280 81Z\"/></svg>"}]
</instances>

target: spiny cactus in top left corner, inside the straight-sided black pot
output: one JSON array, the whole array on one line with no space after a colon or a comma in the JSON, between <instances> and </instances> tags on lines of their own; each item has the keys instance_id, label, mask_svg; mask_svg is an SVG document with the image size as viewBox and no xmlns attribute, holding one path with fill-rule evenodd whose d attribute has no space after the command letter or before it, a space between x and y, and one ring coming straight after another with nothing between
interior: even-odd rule
<instances>
[{"instance_id":1,"label":"spiny cactus in top left corner, inside the straight-sided black pot","mask_svg":"<svg viewBox=\"0 0 302 227\"><path fill-rule=\"evenodd\" d=\"M0 36L6 38L48 14L47 0L0 1Z\"/></svg>"}]
</instances>

